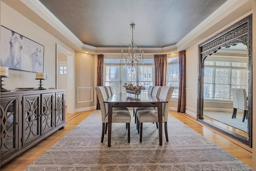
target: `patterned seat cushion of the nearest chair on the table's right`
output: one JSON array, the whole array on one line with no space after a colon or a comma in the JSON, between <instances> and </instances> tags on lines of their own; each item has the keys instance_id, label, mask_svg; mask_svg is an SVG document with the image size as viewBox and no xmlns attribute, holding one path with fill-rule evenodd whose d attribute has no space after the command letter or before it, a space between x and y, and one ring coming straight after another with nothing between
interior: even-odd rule
<instances>
[{"instance_id":1,"label":"patterned seat cushion of the nearest chair on the table's right","mask_svg":"<svg viewBox=\"0 0 256 171\"><path fill-rule=\"evenodd\" d=\"M158 122L158 112L155 110L140 110L137 112L139 122ZM164 119L163 122L167 122L167 119Z\"/></svg>"}]
</instances>

